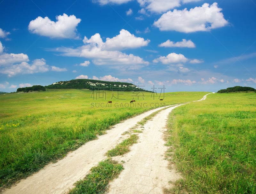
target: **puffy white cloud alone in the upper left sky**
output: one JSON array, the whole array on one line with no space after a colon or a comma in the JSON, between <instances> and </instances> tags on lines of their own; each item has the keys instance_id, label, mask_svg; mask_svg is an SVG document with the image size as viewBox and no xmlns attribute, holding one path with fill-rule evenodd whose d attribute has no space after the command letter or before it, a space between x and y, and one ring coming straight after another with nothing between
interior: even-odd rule
<instances>
[{"instance_id":1,"label":"puffy white cloud alone in the upper left sky","mask_svg":"<svg viewBox=\"0 0 256 194\"><path fill-rule=\"evenodd\" d=\"M30 32L51 38L72 38L78 39L76 27L81 19L75 15L68 16L63 13L56 17L56 22L51 21L48 17L37 17L29 22L28 29Z\"/></svg>"}]
</instances>

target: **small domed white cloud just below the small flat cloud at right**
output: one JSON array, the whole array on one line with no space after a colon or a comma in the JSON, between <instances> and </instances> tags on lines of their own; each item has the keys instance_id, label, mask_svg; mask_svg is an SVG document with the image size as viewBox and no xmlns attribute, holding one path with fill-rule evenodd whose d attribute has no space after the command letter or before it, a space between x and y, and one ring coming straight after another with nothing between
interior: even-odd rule
<instances>
[{"instance_id":1,"label":"small domed white cloud just below the small flat cloud at right","mask_svg":"<svg viewBox=\"0 0 256 194\"><path fill-rule=\"evenodd\" d=\"M170 53L166 57L159 57L153 60L154 63L161 62L163 64L177 64L177 63L186 63L188 58L182 54Z\"/></svg>"}]
</instances>

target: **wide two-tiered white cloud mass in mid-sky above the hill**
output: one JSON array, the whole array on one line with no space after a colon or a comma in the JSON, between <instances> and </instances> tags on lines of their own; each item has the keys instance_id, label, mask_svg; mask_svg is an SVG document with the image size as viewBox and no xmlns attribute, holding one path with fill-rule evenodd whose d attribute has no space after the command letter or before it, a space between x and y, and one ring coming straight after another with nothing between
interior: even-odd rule
<instances>
[{"instance_id":1,"label":"wide two-tiered white cloud mass in mid-sky above the hill","mask_svg":"<svg viewBox=\"0 0 256 194\"><path fill-rule=\"evenodd\" d=\"M126 41L129 40L129 41ZM120 34L107 38L104 43L100 34L92 35L90 39L84 37L84 46L77 49L58 48L55 51L63 52L64 56L76 56L92 59L96 65L148 65L148 61L144 61L139 56L133 54L125 54L119 50L127 48L138 48L148 44L149 40L135 37L126 30L121 30Z\"/></svg>"}]
</instances>

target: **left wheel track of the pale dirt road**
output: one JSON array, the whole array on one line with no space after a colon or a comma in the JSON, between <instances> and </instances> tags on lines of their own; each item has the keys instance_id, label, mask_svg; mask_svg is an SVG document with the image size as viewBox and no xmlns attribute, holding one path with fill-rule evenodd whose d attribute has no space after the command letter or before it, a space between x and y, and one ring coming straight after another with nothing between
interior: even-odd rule
<instances>
[{"instance_id":1,"label":"left wheel track of the pale dirt road","mask_svg":"<svg viewBox=\"0 0 256 194\"><path fill-rule=\"evenodd\" d=\"M113 126L105 135L87 142L57 163L50 163L37 173L21 180L18 184L6 189L4 194L63 194L74 187L74 183L83 179L93 166L106 159L104 155L122 142L122 133L134 127L138 121L163 107L142 113Z\"/></svg>"}]
</instances>

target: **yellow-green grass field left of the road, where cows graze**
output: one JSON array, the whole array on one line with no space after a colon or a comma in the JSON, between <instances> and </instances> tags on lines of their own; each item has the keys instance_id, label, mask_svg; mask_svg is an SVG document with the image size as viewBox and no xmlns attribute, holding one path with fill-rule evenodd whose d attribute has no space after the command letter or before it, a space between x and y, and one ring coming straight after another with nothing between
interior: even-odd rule
<instances>
[{"instance_id":1,"label":"yellow-green grass field left of the road, where cows graze","mask_svg":"<svg viewBox=\"0 0 256 194\"><path fill-rule=\"evenodd\" d=\"M65 156L120 120L152 108L199 100L207 93L47 89L1 94L0 187ZM132 99L136 102L130 103Z\"/></svg>"}]
</instances>

